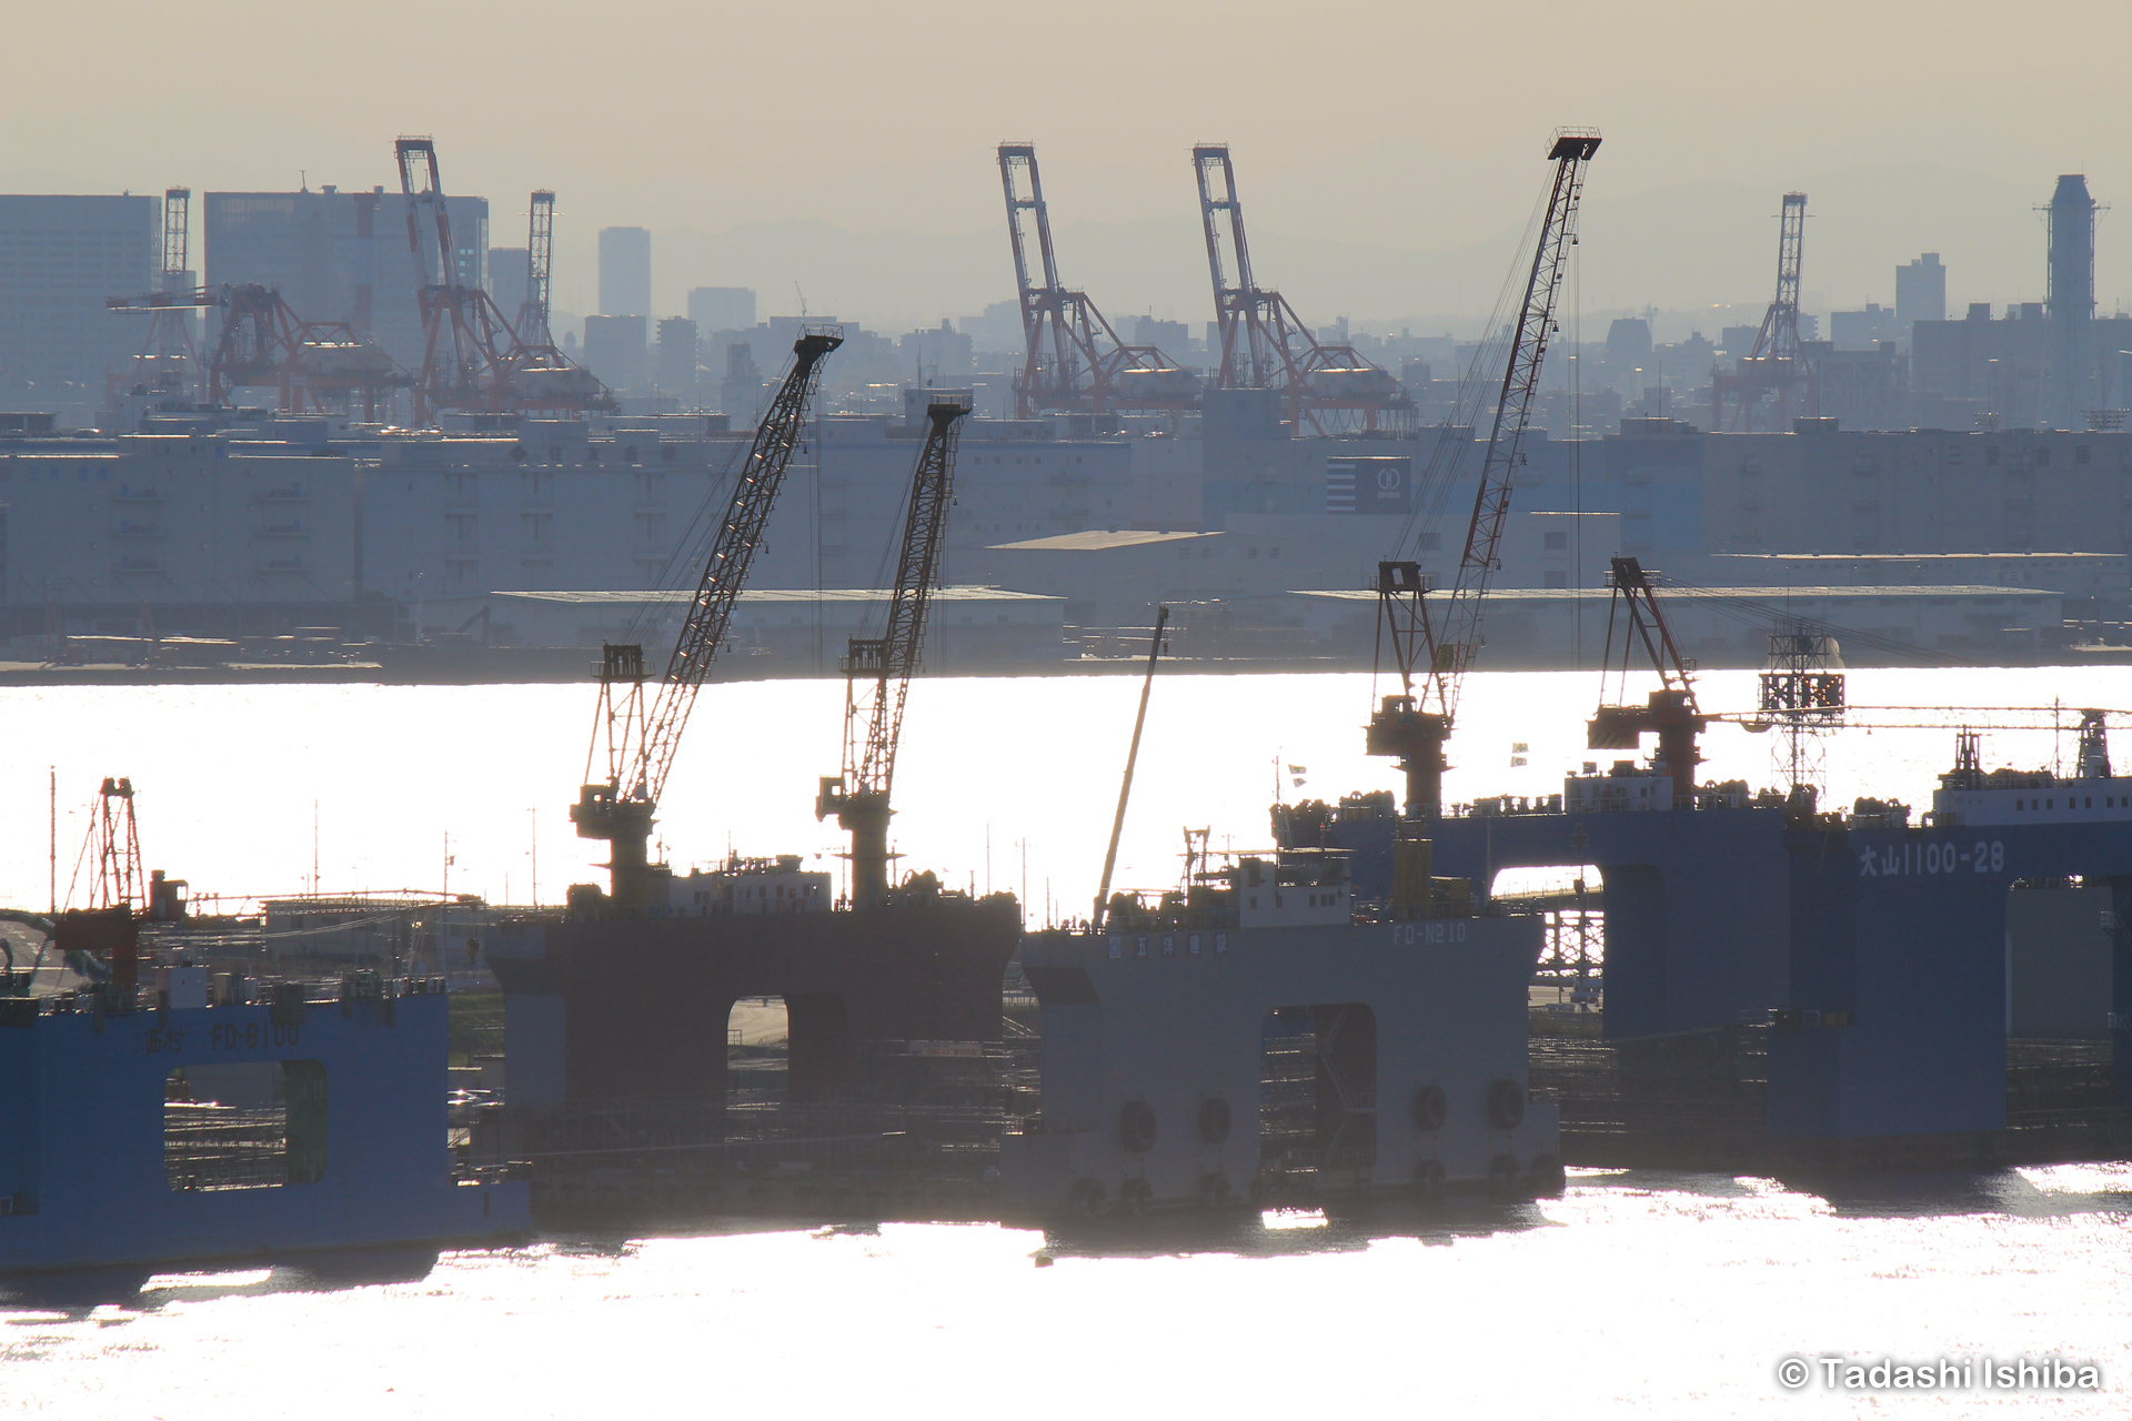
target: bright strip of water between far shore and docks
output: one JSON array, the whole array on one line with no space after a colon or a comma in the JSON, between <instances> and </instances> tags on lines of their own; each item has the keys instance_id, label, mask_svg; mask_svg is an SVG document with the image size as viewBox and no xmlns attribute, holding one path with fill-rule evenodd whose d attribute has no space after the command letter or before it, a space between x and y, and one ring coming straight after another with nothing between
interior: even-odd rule
<instances>
[{"instance_id":1,"label":"bright strip of water between far shore and docks","mask_svg":"<svg viewBox=\"0 0 2132 1421\"><path fill-rule=\"evenodd\" d=\"M1394 788L1362 754L1369 675L1170 675L1158 682L1119 852L1121 886L1177 882L1183 827L1213 846L1262 848L1277 782L1290 799ZM1631 677L1631 692L1642 695ZM1561 793L1563 771L1616 752L1584 748L1597 675L1469 680L1450 744L1450 799ZM1748 709L1755 677L1701 677L1706 709ZM955 886L1021 893L1032 916L1085 910L1102 867L1138 677L925 680L910 697L895 778L900 865ZM2132 707L2132 669L1853 671L1878 705ZM836 682L710 686L661 805L676 867L725 852L797 852L840 871L836 822L814 820L817 778L836 773ZM591 686L164 686L0 690L0 903L47 901L47 767L60 775L66 897L104 775L141 793L151 867L196 895L362 888L561 901L603 880L603 850L574 837L593 729ZM2068 714L2068 724L2077 716ZM1770 735L1716 726L1703 778L1774 782ZM1516 752L1516 746L1524 746ZM1512 765L1512 758L1524 765ZM2072 735L1996 733L1987 765L2070 761ZM2119 750L2132 761L2132 741ZM1301 773L1275 771L1298 765ZM1953 763L1949 731L1853 731L1827 748L1831 799L1929 807ZM1303 786L1294 780L1301 778ZM316 833L313 833L316 827ZM450 850L446 839L450 837ZM450 852L450 867L446 856Z\"/></svg>"}]
</instances>

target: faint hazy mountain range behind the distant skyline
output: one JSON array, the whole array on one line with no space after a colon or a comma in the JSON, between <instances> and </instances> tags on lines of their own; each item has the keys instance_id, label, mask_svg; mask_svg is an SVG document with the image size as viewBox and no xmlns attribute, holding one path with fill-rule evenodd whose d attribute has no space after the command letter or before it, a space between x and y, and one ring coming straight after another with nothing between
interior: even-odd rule
<instances>
[{"instance_id":1,"label":"faint hazy mountain range behind the distant skyline","mask_svg":"<svg viewBox=\"0 0 2132 1421\"><path fill-rule=\"evenodd\" d=\"M1951 315L1970 300L1996 309L2045 298L2045 224L2034 211L2055 175L2015 185L1996 177L1904 164L1804 179L1806 309L1893 305L1900 262L1938 251L1949 268ZM2106 198L2109 194L2098 194ZM1691 324L1759 320L1776 266L1778 192L1742 183L1680 183L1614 198L1593 170L1580 243L1580 307L1586 320L1654 307L1659 337ZM1320 326L1345 315L1358 326L1411 326L1418 334L1469 334L1495 307L1520 232L1452 249L1294 236L1283 213L1254 213L1251 256L1262 285L1288 294ZM1087 290L1113 322L1151 313L1194 326L1211 315L1205 245L1190 213L1130 224L1064 222L1055 230L1060 275ZM657 300L680 311L691 285L746 285L761 315L808 311L876 330L934 326L1013 298L1004 219L959 236L853 232L827 222L750 222L725 232L674 228L652 239ZM591 307L593 243L559 254L559 307ZM2102 311L2132 292L2132 239L2104 215L2096 288ZM1731 309L1723 309L1731 307ZM1567 309L1565 309L1567 315ZM1676 330L1678 326L1678 330ZM1586 328L1586 339L1603 337Z\"/></svg>"}]
</instances>

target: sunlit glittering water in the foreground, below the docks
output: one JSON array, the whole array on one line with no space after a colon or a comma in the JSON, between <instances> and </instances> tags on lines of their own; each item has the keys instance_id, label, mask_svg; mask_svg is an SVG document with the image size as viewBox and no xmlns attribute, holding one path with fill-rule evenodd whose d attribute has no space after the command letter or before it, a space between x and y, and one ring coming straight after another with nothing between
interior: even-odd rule
<instances>
[{"instance_id":1,"label":"sunlit glittering water in the foreground, below the docks","mask_svg":"<svg viewBox=\"0 0 2132 1421\"><path fill-rule=\"evenodd\" d=\"M755 1225L448 1255L418 1283L162 1276L0 1310L0 1415L2123 1417L2128 1208L2117 1165L1827 1193L1578 1174L1426 1225ZM1787 1393L1802 1353L2060 1355L2104 1385Z\"/></svg>"}]
</instances>

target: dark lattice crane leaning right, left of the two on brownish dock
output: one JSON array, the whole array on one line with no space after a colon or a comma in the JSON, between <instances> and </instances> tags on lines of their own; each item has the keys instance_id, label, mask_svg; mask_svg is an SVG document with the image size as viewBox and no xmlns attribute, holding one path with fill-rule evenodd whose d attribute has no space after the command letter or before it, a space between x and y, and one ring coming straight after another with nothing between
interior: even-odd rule
<instances>
[{"instance_id":1,"label":"dark lattice crane leaning right, left of the two on brownish dock","mask_svg":"<svg viewBox=\"0 0 2132 1421\"><path fill-rule=\"evenodd\" d=\"M808 407L821 383L821 362L842 343L840 326L800 328L793 362L755 426L755 441L733 479L725 522L712 539L659 686L646 695L642 646L601 648L599 709L584 763L586 784L578 793L578 803L569 807L569 822L578 827L580 839L608 844L612 905L623 912L642 912L650 905L646 844L667 773L674 769L674 752L689 726L695 692L704 688L718 648L725 646L733 603L763 543L763 526L785 486L785 469L806 430ZM601 748L608 773L595 782L593 763Z\"/></svg>"}]
</instances>

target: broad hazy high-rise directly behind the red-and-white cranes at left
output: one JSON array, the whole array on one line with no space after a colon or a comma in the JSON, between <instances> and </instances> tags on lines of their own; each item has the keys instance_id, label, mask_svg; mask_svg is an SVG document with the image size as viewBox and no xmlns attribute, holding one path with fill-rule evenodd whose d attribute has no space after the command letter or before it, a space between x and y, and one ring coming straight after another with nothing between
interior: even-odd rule
<instances>
[{"instance_id":1,"label":"broad hazy high-rise directly behind the red-and-white cranes at left","mask_svg":"<svg viewBox=\"0 0 2132 1421\"><path fill-rule=\"evenodd\" d=\"M488 285L488 198L446 198L452 275ZM422 273L407 249L407 207L384 187L209 192L209 285L271 285L307 322L348 322L407 369L422 364ZM209 332L213 339L215 332Z\"/></svg>"}]
</instances>

